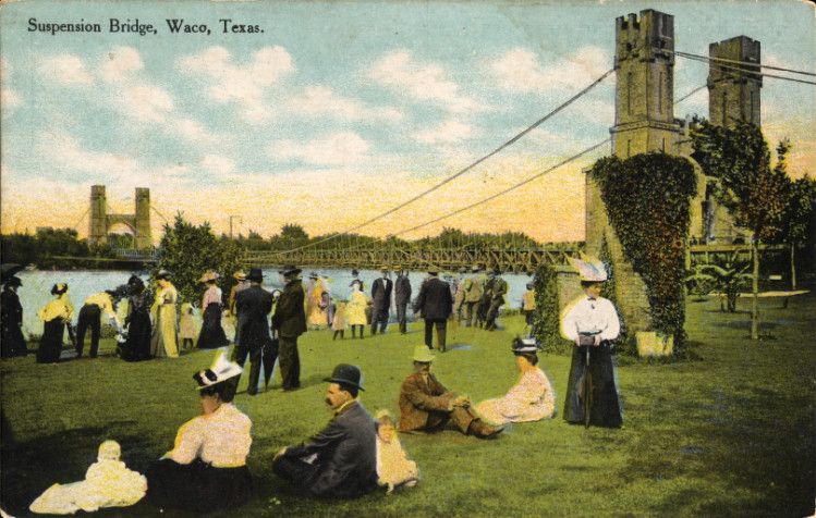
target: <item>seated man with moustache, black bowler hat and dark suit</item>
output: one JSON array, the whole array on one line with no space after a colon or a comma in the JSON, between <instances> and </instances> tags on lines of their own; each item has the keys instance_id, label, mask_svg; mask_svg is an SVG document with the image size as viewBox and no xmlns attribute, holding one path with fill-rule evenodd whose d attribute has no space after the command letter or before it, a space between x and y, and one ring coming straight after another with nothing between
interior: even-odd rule
<instances>
[{"instance_id":1,"label":"seated man with moustache, black bowler hat and dark suit","mask_svg":"<svg viewBox=\"0 0 816 518\"><path fill-rule=\"evenodd\" d=\"M360 368L341 363L334 368L326 404L334 417L326 429L299 446L275 456L272 470L299 493L316 496L354 497L377 488L376 431L374 419L357 399Z\"/></svg>"}]
</instances>

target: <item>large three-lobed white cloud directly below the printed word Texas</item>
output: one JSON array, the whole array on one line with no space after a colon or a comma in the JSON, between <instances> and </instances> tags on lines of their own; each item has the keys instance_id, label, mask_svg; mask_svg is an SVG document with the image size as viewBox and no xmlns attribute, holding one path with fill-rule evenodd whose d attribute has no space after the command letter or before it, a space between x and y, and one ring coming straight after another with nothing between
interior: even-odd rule
<instances>
[{"instance_id":1,"label":"large three-lobed white cloud directly below the printed word Texas","mask_svg":"<svg viewBox=\"0 0 816 518\"><path fill-rule=\"evenodd\" d=\"M207 91L214 100L240 102L251 121L269 115L263 102L265 88L278 84L294 70L292 57L278 46L264 47L244 65L233 64L232 55L223 47L209 47L198 54L182 58L178 66L187 74L205 76L210 83Z\"/></svg>"}]
</instances>

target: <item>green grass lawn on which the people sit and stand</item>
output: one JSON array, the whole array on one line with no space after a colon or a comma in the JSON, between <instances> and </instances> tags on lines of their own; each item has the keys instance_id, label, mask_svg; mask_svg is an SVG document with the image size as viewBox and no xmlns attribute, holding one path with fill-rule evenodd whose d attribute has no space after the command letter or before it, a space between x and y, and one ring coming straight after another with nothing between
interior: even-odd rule
<instances>
[{"instance_id":1,"label":"green grass lawn on which the people sit and stand","mask_svg":"<svg viewBox=\"0 0 816 518\"><path fill-rule=\"evenodd\" d=\"M743 305L745 303L742 303ZM695 360L624 361L619 367L622 430L568 425L561 419L570 359L541 355L557 392L550 421L509 427L497 440L401 435L423 480L416 488L353 501L291 493L271 472L281 447L329 419L321 379L339 362L364 373L362 402L372 414L397 415L400 383L422 344L422 323L402 336L331 341L327 331L300 341L304 388L273 390L236 405L253 420L253 499L210 516L780 516L814 514L816 501L816 297L760 299L762 332L748 340L750 314L722 313L719 303L690 303L686 330ZM503 331L449 330L449 351L434 371L474 400L502 395L516 381L509 351L520 317ZM391 328L395 330L395 326ZM103 343L110 354L112 341ZM2 408L13 436L3 437L2 506L15 517L54 482L81 480L99 443L114 439L123 460L144 472L172 447L179 427L196 416L193 372L212 353L126 363L111 356L36 365L34 355L2 362ZM12 443L13 441L13 443ZM148 503L98 516L188 516Z\"/></svg>"}]
</instances>

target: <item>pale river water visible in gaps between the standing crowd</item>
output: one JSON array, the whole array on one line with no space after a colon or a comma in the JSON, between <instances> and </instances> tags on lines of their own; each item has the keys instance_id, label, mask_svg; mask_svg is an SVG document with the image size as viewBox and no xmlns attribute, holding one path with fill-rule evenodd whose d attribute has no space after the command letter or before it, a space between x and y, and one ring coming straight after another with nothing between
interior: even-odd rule
<instances>
[{"instance_id":1,"label":"pale river water visible in gaps between the standing crowd","mask_svg":"<svg viewBox=\"0 0 816 518\"><path fill-rule=\"evenodd\" d=\"M266 289L282 289L283 286L278 275L277 269L263 269L264 272L264 287ZM337 270L337 269L310 269L306 268L303 271L304 283L308 282L308 276L312 272L322 275L329 287L332 298L348 299L351 296L352 288L350 286L354 276L351 270ZM117 271L23 271L17 274L23 281L23 286L17 288L20 295L20 301L23 305L23 332L26 336L29 334L41 335L42 334L42 322L37 318L37 311L52 300L51 286L57 283L64 282L69 285L69 297L74 305L74 323L76 323L76 316L80 312L85 298L90 295L103 292L106 289L113 289L117 286L124 284L130 279L131 274L127 272ZM374 270L361 270L358 279L364 283L364 291L366 295L370 296L372 284L375 279L381 276L381 273ZM419 293L419 284L427 274L425 272L409 272L409 279L411 280L412 300L416 298ZM446 275L440 274L440 279L444 279ZM466 275L467 276L467 275ZM147 281L147 275L142 275ZM532 281L532 278L527 274L519 273L507 273L502 278L508 283L508 295L504 297L507 304L503 309L517 309L521 307L521 299L526 291L526 284ZM391 274L391 280L395 280L397 274ZM124 306L124 305L120 305ZM121 308L120 308L121 309ZM393 308L392 308L393 312ZM393 314L391 319L393 320Z\"/></svg>"}]
</instances>

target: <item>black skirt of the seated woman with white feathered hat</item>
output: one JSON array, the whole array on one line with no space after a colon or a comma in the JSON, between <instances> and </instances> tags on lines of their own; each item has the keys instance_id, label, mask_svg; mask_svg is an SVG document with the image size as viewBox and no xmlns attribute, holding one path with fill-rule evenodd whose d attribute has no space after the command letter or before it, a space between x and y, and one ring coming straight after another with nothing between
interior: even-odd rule
<instances>
[{"instance_id":1,"label":"black skirt of the seated woman with white feathered hat","mask_svg":"<svg viewBox=\"0 0 816 518\"><path fill-rule=\"evenodd\" d=\"M147 497L197 511L244 505L253 492L249 468L214 468L200 459L179 464L166 458L147 468Z\"/></svg>"}]
</instances>

